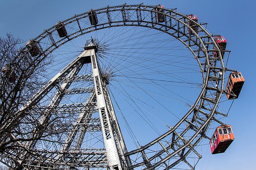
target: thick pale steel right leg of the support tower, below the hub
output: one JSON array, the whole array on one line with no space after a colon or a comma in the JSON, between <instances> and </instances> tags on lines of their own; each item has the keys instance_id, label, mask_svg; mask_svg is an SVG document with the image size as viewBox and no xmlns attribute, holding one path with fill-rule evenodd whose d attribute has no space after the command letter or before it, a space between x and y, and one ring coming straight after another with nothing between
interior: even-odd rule
<instances>
[{"instance_id":1,"label":"thick pale steel right leg of the support tower, below the hub","mask_svg":"<svg viewBox=\"0 0 256 170\"><path fill-rule=\"evenodd\" d=\"M113 110L106 83L102 81L102 72L94 49L88 50L91 56L97 106L101 119L103 139L110 170L127 169L129 161L125 160L127 149Z\"/></svg>"}]
</instances>

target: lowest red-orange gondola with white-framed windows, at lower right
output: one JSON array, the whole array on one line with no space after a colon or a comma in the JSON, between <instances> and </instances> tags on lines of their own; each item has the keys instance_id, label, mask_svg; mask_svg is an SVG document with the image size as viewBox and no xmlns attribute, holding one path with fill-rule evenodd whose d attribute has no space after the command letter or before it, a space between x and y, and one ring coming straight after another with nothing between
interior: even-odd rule
<instances>
[{"instance_id":1,"label":"lowest red-orange gondola with white-framed windows, at lower right","mask_svg":"<svg viewBox=\"0 0 256 170\"><path fill-rule=\"evenodd\" d=\"M230 125L217 127L210 141L211 153L224 153L234 139L234 134Z\"/></svg>"}]
</instances>

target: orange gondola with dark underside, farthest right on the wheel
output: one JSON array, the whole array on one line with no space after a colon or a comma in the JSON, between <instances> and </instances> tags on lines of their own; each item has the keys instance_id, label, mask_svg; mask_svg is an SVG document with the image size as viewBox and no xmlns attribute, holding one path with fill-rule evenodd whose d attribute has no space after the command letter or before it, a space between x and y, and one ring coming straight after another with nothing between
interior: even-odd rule
<instances>
[{"instance_id":1,"label":"orange gondola with dark underside, farthest right on the wheel","mask_svg":"<svg viewBox=\"0 0 256 170\"><path fill-rule=\"evenodd\" d=\"M226 94L227 99L237 99L242 90L244 82L245 80L241 72L231 72L229 75L229 80L227 81L226 91L236 95L236 97Z\"/></svg>"}]
</instances>

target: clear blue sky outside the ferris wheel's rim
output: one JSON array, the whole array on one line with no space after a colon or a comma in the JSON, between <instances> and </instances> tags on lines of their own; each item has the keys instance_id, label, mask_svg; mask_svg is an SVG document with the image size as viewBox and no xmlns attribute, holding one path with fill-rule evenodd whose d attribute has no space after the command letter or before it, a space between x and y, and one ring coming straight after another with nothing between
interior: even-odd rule
<instances>
[{"instance_id":1,"label":"clear blue sky outside the ferris wheel's rim","mask_svg":"<svg viewBox=\"0 0 256 170\"><path fill-rule=\"evenodd\" d=\"M107 5L123 3L139 4L141 1L68 1L68 0L8 0L0 1L0 36L11 32L25 41L41 34L59 20L65 20L74 14L101 8ZM255 96L255 1L253 0L147 0L148 5L163 4L167 8L177 8L180 13L196 15L200 22L208 23L207 29L213 34L225 36L227 49L231 50L229 68L241 71L245 84L238 99L231 107L225 119L232 125L235 141L224 154L210 154L210 148L203 155L197 170L217 168L241 170L255 169L256 137L254 123Z\"/></svg>"}]
</instances>

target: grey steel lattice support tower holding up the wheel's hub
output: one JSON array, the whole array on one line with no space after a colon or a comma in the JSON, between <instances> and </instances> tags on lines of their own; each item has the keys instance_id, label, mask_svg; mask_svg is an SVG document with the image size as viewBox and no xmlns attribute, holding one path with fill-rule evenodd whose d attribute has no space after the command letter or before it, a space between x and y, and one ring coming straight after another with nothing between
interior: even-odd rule
<instances>
[{"instance_id":1,"label":"grey steel lattice support tower holding up the wheel's hub","mask_svg":"<svg viewBox=\"0 0 256 170\"><path fill-rule=\"evenodd\" d=\"M16 165L14 165L18 167L18 169L77 169L79 164L82 164L82 167L87 167L87 169L96 167L107 168L110 170L125 170L131 166L129 157L124 157L124 154L128 151L110 99L107 87L109 82L108 80L103 79L102 70L98 64L96 55L97 48L97 39L87 40L82 54L76 57L62 71L54 76L27 103L27 106L29 106L31 103L37 102L44 98L53 87L56 87L56 94L42 114L42 117L39 119L38 126L34 129L34 132L38 132L44 128L47 121L51 118L51 112L63 107L59 106L59 104L64 95L70 93L90 93L86 103L80 103L82 106L75 106L75 109L80 109L80 114L76 119L72 130L67 135L62 149L59 152L52 154L46 153L45 155L50 155L49 157L44 156L39 158L38 153L33 151L37 141L26 142L25 144L20 143L20 145L23 145L28 151L22 153L17 151L17 153L15 153L21 158L15 163ZM92 74L78 75L79 71L86 64L91 64ZM94 87L69 89L73 81L92 81ZM67 104L65 110L74 110L74 104ZM91 117L93 112L98 112L98 119ZM102 131L105 148L94 148L81 151L81 145L87 131ZM35 133L33 138L41 136L42 133ZM71 149L72 143L75 143L73 149ZM39 153L39 155L43 154ZM26 161L31 159L34 159L34 162Z\"/></svg>"}]
</instances>

